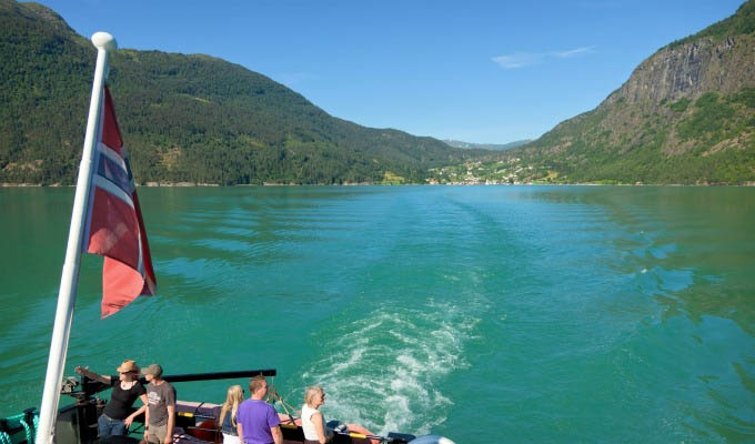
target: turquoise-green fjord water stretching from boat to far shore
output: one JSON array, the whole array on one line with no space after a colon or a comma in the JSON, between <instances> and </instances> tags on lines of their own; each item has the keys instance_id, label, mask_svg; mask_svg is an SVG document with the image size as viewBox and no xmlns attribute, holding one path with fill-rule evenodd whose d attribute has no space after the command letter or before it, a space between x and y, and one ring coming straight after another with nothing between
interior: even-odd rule
<instances>
[{"instance_id":1,"label":"turquoise-green fjord water stretching from boat to far shore","mask_svg":"<svg viewBox=\"0 0 755 444\"><path fill-rule=\"evenodd\" d=\"M67 374L274 367L291 404L457 443L755 441L753 189L139 193L159 296L99 320L84 256ZM72 195L0 189L0 416L39 405Z\"/></svg>"}]
</instances>

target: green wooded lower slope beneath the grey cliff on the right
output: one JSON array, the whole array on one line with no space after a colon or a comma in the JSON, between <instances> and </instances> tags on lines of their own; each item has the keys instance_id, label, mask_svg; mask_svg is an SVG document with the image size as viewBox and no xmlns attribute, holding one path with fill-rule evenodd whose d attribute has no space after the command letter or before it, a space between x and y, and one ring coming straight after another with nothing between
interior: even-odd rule
<instances>
[{"instance_id":1,"label":"green wooded lower slope beneath the grey cliff on the right","mask_svg":"<svg viewBox=\"0 0 755 444\"><path fill-rule=\"evenodd\" d=\"M512 155L540 168L541 179L562 183L753 182L755 88L694 101L620 100L560 124Z\"/></svg>"}]
</instances>

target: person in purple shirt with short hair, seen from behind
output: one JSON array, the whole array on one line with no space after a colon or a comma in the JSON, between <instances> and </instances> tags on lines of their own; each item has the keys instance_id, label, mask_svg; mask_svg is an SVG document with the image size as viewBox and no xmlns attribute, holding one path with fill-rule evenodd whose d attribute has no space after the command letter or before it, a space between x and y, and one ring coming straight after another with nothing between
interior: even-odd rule
<instances>
[{"instance_id":1,"label":"person in purple shirt with short hair, seen from behind","mask_svg":"<svg viewBox=\"0 0 755 444\"><path fill-rule=\"evenodd\" d=\"M252 397L239 405L236 430L244 444L282 444L283 434L275 408L262 401L268 394L268 381L264 376L254 376L249 381Z\"/></svg>"}]
</instances>

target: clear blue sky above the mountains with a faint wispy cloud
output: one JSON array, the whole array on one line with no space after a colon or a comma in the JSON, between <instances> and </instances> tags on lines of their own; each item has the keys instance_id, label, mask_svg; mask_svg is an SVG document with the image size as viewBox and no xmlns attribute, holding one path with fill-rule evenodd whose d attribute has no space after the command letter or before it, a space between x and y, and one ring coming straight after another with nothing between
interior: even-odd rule
<instances>
[{"instance_id":1,"label":"clear blue sky above the mountains with a faint wispy cloud","mask_svg":"<svg viewBox=\"0 0 755 444\"><path fill-rule=\"evenodd\" d=\"M328 113L477 143L595 108L666 43L741 0L41 0L84 37L207 53Z\"/></svg>"}]
</instances>

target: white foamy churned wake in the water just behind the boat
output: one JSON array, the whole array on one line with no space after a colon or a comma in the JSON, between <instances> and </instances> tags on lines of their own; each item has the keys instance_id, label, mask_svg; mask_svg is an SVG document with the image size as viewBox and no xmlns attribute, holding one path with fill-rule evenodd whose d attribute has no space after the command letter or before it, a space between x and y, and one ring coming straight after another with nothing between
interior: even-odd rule
<instances>
[{"instance_id":1,"label":"white foamy churned wake in the water just behind the boat","mask_svg":"<svg viewBox=\"0 0 755 444\"><path fill-rule=\"evenodd\" d=\"M373 433L426 434L446 418L452 402L436 389L469 365L465 343L480 322L450 303L383 307L330 332L323 356L302 374L328 394L328 420L358 423ZM333 334L334 333L334 334Z\"/></svg>"}]
</instances>

